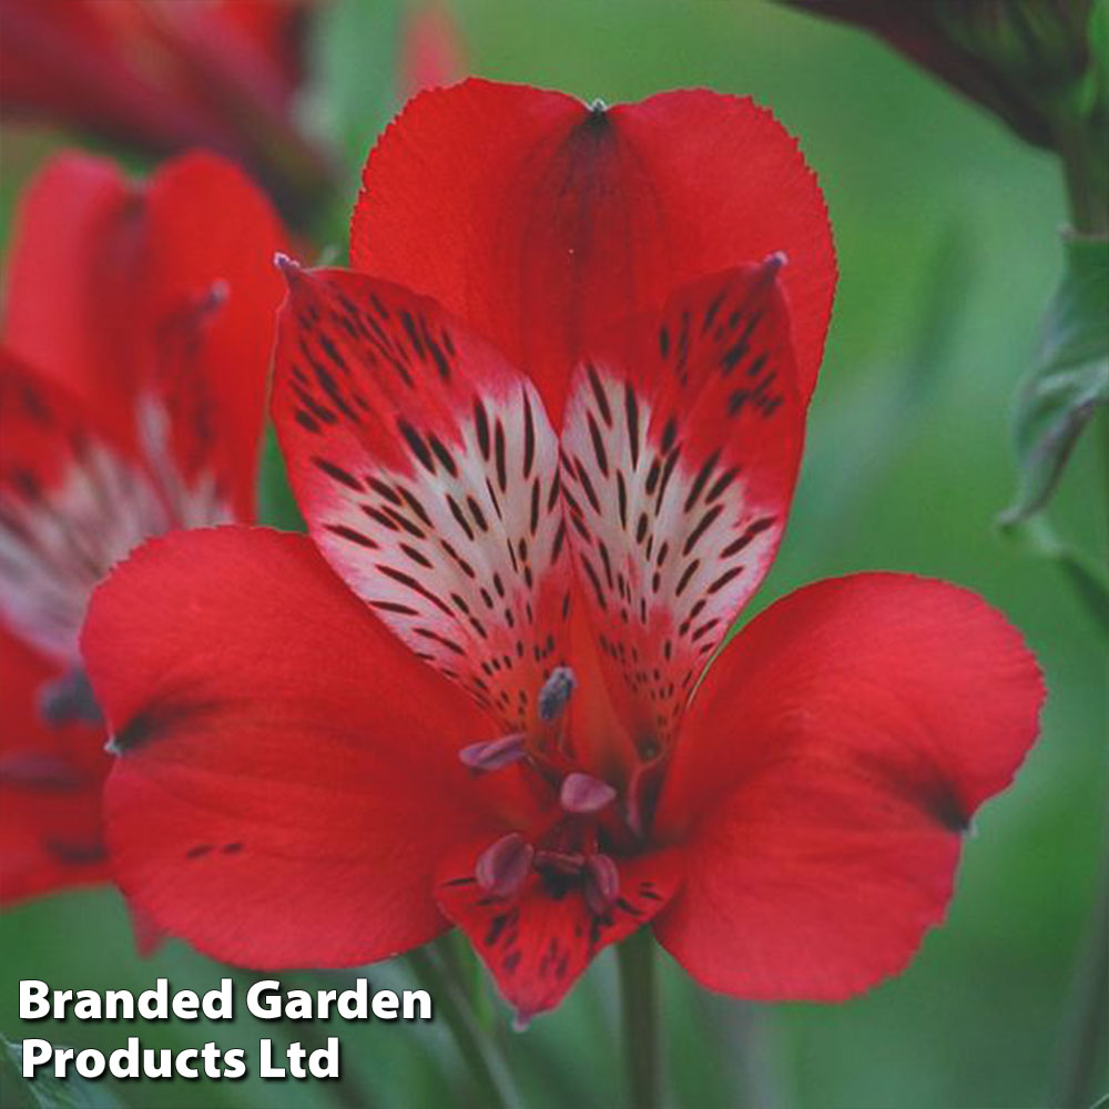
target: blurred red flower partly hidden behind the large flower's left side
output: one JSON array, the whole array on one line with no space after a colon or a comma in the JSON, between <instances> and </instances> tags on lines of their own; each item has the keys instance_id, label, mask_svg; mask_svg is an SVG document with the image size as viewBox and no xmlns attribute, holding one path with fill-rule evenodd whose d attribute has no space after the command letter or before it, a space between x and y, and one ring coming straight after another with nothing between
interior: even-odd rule
<instances>
[{"instance_id":1,"label":"blurred red flower partly hidden behind the large flower's left side","mask_svg":"<svg viewBox=\"0 0 1109 1109\"><path fill-rule=\"evenodd\" d=\"M138 189L64 154L14 227L0 333L0 899L106 877L111 759L78 632L170 528L250 520L282 234L196 154Z\"/></svg>"}]
</instances>

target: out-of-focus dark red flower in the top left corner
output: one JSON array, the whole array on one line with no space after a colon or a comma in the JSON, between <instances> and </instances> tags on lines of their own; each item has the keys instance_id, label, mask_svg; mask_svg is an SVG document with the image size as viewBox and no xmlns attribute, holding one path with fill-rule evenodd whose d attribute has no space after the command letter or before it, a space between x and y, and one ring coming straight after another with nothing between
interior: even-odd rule
<instances>
[{"instance_id":1,"label":"out-of-focus dark red flower in the top left corner","mask_svg":"<svg viewBox=\"0 0 1109 1109\"><path fill-rule=\"evenodd\" d=\"M296 126L315 0L0 0L0 110L172 153L207 146L286 199L329 169Z\"/></svg>"}]
</instances>

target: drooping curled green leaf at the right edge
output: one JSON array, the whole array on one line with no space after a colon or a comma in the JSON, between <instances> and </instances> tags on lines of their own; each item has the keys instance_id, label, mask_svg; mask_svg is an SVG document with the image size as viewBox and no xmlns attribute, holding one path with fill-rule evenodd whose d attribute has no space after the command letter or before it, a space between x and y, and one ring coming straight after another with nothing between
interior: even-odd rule
<instances>
[{"instance_id":1,"label":"drooping curled green leaf at the right edge","mask_svg":"<svg viewBox=\"0 0 1109 1109\"><path fill-rule=\"evenodd\" d=\"M1109 240L1070 236L1066 245L1038 364L1017 405L1020 477L1003 526L1047 503L1082 428L1109 403Z\"/></svg>"}]
</instances>

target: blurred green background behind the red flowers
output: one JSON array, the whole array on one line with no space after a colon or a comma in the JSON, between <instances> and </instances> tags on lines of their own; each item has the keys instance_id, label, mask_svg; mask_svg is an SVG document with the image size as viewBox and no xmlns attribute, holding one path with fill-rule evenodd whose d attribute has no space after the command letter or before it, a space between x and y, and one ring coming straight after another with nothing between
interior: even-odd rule
<instances>
[{"instance_id":1,"label":"blurred green background behind the red flowers","mask_svg":"<svg viewBox=\"0 0 1109 1109\"><path fill-rule=\"evenodd\" d=\"M1007 548L991 522L1015 481L1013 393L1060 271L1066 215L1054 160L877 42L769 3L452 7L472 72L610 102L690 85L751 94L800 138L831 207L841 282L790 532L754 609L854 570L947 578L1024 630L1050 691L1041 742L967 841L946 925L899 978L845 1005L746 1006L700 993L660 955L673 1102L1045 1105L1066 1050L1060 1026L1109 791L1103 647L1052 568ZM319 221L330 228L319 245L340 257L356 171L393 108L398 19L393 4L349 2L333 4L315 27L305 110L349 155L348 195ZM59 140L8 130L3 141L7 233L14 194ZM1080 446L1054 516L1068 538L1103 552L1092 446ZM0 947L0 1029L12 1039L102 1048L128 1035L150 1047L215 1039L254 1055L262 1036L301 1035L247 1021L21 1025L20 978L140 990L165 975L174 987L203 989L225 973L180 943L140 958L110 891L6 914ZM368 974L377 986L415 985L401 963ZM619 1096L611 953L523 1036L492 1011L529 1105L604 1106ZM459 1062L440 1021L335 1030L350 1076L344 1086L356 1079L358 1091L252 1078L121 1083L114 1093L152 1107L295 1107L344 1096L348 1105L459 1103Z\"/></svg>"}]
</instances>

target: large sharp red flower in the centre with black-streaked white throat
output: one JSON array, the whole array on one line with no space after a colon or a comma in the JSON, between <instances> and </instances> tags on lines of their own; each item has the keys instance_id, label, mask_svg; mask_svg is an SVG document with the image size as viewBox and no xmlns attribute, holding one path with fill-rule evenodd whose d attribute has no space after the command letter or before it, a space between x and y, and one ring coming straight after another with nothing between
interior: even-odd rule
<instances>
[{"instance_id":1,"label":"large sharp red flower in the centre with black-streaked white throat","mask_svg":"<svg viewBox=\"0 0 1109 1109\"><path fill-rule=\"evenodd\" d=\"M823 227L815 185L744 102L691 93L604 112L469 85L419 98L415 131L406 114L386 138L367 175L378 210L399 205L389 174L403 179L399 151L418 150L429 121L442 139L456 109L498 95L530 154L522 179L489 189L539 195L498 226L475 204L494 235L475 233L475 273L533 265L550 304L543 315L538 288L481 289L460 272L454 291L477 314L503 296L500 338L532 353L531 373L520 346L506 356L426 295L285 265L273 405L312 537L155 541L85 624L121 752L106 787L118 878L163 927L254 967L362 964L456 924L522 1019L644 925L712 988L845 997L903 967L940 919L962 831L1035 736L1035 662L977 598L859 574L777 602L699 685L782 536L830 256L792 284L779 253L734 260L653 308L641 286L594 278L634 276L634 247L653 289L639 236L663 235L683 274L673 228L718 226L745 189L762 194L761 176L736 173L734 196L711 160L673 163L704 149L702 128L724 173L806 182L810 210L766 196L757 237L792 246L798 226ZM753 135L775 150L744 151ZM488 159L507 164L499 149ZM486 156L457 132L437 156L459 152ZM421 153L418 172L445 180ZM705 204L688 212L694 197ZM542 222L549 202L576 213L569 240ZM408 222L420 228L415 211ZM515 256L525 226L536 253ZM720 237L756 234L730 226ZM465 222L457 237L470 241ZM562 279L567 241L580 268ZM440 288L451 257L445 243L446 268L428 275ZM601 326L628 301L641 311ZM527 305L531 335L511 315ZM552 359L578 344L560 384Z\"/></svg>"}]
</instances>

